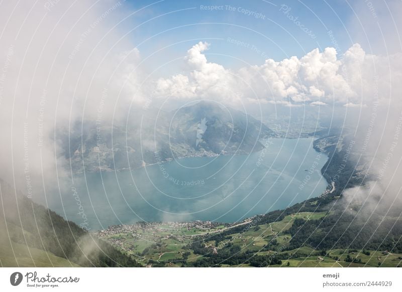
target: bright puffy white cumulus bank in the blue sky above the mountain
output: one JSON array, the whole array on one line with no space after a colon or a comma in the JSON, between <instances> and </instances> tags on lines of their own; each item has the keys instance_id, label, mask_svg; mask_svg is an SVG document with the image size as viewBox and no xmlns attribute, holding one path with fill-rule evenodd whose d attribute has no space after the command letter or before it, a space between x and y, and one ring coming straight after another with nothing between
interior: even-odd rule
<instances>
[{"instance_id":1,"label":"bright puffy white cumulus bank in the blue sky above the mountain","mask_svg":"<svg viewBox=\"0 0 402 292\"><path fill-rule=\"evenodd\" d=\"M383 56L366 54L354 44L342 56L334 48L323 52L314 49L302 58L295 56L279 62L272 59L264 64L230 70L208 62L204 52L209 43L199 42L187 51L184 64L188 74L160 78L156 82L158 94L172 99L215 98L222 102L266 103L285 106L305 102L312 105L335 103L347 107L370 103L373 100L373 79L376 90L389 91L386 78L389 67ZM394 61L392 72L402 74L402 56L388 56ZM387 99L386 94L382 95ZM253 102L252 100L256 102Z\"/></svg>"}]
</instances>

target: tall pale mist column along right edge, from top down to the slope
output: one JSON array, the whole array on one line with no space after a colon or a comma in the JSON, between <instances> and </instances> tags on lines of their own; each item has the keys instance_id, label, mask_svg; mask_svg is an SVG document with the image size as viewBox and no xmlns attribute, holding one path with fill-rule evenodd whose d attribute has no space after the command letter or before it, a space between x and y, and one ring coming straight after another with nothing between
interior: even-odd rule
<instances>
[{"instance_id":1,"label":"tall pale mist column along right edge, from top down to the slope","mask_svg":"<svg viewBox=\"0 0 402 292\"><path fill-rule=\"evenodd\" d=\"M356 141L354 152L361 155L360 169L371 181L343 192L343 200L362 205L363 215L401 215L402 193L400 177L402 148L402 47L396 37L402 22L396 16L401 12L400 2L389 1L368 4L356 2L357 13L349 22L348 31L365 48L376 52L368 54L354 45L344 54L344 69L348 81L360 92L361 100L348 100L347 107L358 108L347 126Z\"/></svg>"}]
</instances>

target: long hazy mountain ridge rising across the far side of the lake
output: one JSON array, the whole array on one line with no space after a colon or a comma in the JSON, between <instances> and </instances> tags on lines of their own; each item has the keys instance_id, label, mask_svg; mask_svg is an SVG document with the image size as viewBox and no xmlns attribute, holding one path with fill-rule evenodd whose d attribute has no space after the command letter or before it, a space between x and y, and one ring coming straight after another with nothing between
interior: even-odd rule
<instances>
[{"instance_id":1,"label":"long hazy mountain ridge rising across the far side of the lake","mask_svg":"<svg viewBox=\"0 0 402 292\"><path fill-rule=\"evenodd\" d=\"M230 107L201 101L165 112L150 108L113 126L84 121L59 130L74 171L139 168L185 157L241 155L263 149L274 136L266 125Z\"/></svg>"}]
</instances>

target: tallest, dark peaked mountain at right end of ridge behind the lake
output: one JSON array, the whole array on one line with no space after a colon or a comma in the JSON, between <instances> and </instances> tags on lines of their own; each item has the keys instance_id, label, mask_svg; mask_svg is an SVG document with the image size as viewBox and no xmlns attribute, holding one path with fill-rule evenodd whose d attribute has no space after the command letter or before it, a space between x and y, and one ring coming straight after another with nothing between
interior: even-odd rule
<instances>
[{"instance_id":1,"label":"tallest, dark peaked mountain at right end of ridge behind the lake","mask_svg":"<svg viewBox=\"0 0 402 292\"><path fill-rule=\"evenodd\" d=\"M240 111L222 109L216 103L201 101L174 112L170 122L170 144L190 153L247 154L262 150L259 142L272 131ZM186 152L174 149L175 155Z\"/></svg>"}]
</instances>

